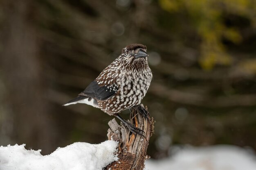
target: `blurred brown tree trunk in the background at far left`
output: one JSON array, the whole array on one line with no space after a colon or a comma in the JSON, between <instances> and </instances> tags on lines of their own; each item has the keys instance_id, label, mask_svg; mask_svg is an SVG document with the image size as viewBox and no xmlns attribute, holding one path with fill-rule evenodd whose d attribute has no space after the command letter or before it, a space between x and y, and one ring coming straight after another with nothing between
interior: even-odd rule
<instances>
[{"instance_id":1,"label":"blurred brown tree trunk in the background at far left","mask_svg":"<svg viewBox=\"0 0 256 170\"><path fill-rule=\"evenodd\" d=\"M45 77L42 74L42 60L39 57L39 41L34 28L29 24L30 1L9 1L4 4L2 22L0 67L3 82L7 88L4 99L13 123L9 134L13 141L25 143L27 147L42 149L44 153L53 150L56 129L49 115L45 98ZM16 143L16 142L15 142Z\"/></svg>"}]
</instances>

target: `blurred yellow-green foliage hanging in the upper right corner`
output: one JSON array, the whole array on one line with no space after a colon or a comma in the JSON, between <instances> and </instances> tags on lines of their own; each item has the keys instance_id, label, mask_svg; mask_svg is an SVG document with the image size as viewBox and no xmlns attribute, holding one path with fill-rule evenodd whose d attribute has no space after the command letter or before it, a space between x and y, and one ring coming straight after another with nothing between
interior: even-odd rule
<instances>
[{"instance_id":1,"label":"blurred yellow-green foliage hanging in the upper right corner","mask_svg":"<svg viewBox=\"0 0 256 170\"><path fill-rule=\"evenodd\" d=\"M234 61L223 39L234 44L243 41L238 27L225 24L227 13L247 17L256 24L254 0L159 0L159 4L170 13L187 14L187 20L201 38L198 62L204 70L211 70L216 64L231 65Z\"/></svg>"}]
</instances>

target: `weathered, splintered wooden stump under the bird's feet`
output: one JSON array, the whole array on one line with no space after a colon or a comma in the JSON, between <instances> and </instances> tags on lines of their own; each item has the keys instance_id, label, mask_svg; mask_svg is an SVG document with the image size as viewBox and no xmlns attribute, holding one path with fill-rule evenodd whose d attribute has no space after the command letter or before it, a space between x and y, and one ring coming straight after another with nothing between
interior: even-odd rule
<instances>
[{"instance_id":1,"label":"weathered, splintered wooden stump under the bird's feet","mask_svg":"<svg viewBox=\"0 0 256 170\"><path fill-rule=\"evenodd\" d=\"M141 104L142 107L144 107ZM147 107L145 108L147 110ZM114 119L108 122L108 139L119 142L118 161L110 163L105 170L143 170L149 138L153 134L154 120L144 118L136 107L131 108L130 122L145 132L146 139L141 135L134 135L121 123ZM148 115L149 118L149 115Z\"/></svg>"}]
</instances>

